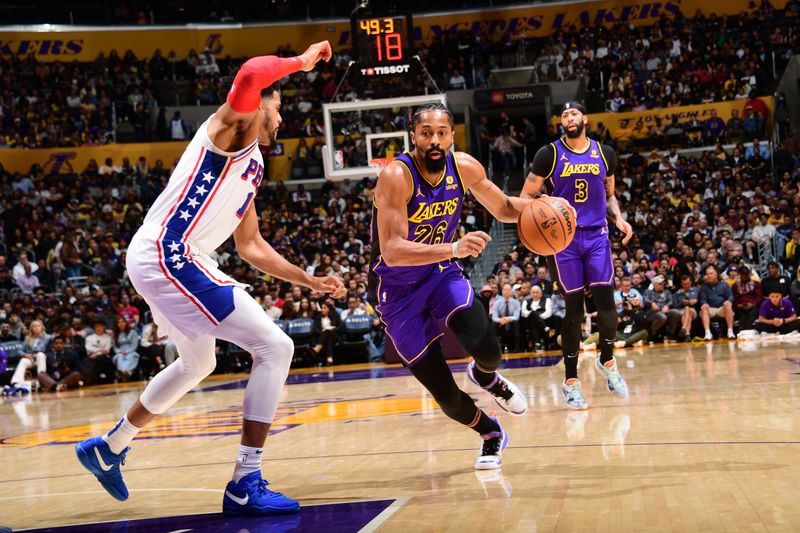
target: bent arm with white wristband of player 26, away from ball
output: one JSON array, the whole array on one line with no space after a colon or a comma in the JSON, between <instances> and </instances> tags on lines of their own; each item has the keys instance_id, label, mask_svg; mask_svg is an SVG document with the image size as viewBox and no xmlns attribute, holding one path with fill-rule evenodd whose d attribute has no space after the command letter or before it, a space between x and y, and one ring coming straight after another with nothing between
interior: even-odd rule
<instances>
[{"instance_id":1,"label":"bent arm with white wristband of player 26, away from ball","mask_svg":"<svg viewBox=\"0 0 800 533\"><path fill-rule=\"evenodd\" d=\"M424 244L408 240L408 200L411 180L400 164L381 171L375 187L375 206L381 257L389 266L421 266L452 257L478 257L491 237L482 231L467 233L455 243Z\"/></svg>"}]
</instances>

